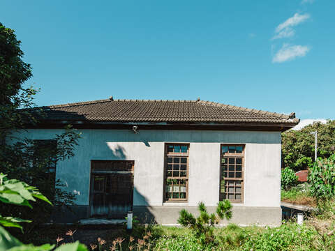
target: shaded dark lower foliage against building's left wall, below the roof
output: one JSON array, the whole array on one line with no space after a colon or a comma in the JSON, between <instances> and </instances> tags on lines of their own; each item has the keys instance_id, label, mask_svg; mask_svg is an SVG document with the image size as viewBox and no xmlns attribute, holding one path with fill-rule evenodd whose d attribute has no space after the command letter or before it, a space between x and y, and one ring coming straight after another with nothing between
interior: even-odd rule
<instances>
[{"instance_id":1,"label":"shaded dark lower foliage against building's left wall, below the roof","mask_svg":"<svg viewBox=\"0 0 335 251\"><path fill-rule=\"evenodd\" d=\"M60 210L61 207L73 204L75 195L64 190L64 184L56 181L55 173L49 172L51 162L58 162L74 155L73 149L77 145L80 135L70 127L63 133L56 135L54 140L57 142L54 151L46 147L39 147L34 144L32 139L17 139L12 144L3 146L0 152L0 167L10 178L16 178L25 183L34 183L40 192L50 198L52 206L45 206L40 201L36 201L33 210L20 206L0 205L0 211L7 215L33 220L33 224L26 226L26 234L29 234L34 227L46 222L52 210ZM17 233L19 234L19 233ZM24 237L24 236L22 236Z\"/></svg>"}]
</instances>

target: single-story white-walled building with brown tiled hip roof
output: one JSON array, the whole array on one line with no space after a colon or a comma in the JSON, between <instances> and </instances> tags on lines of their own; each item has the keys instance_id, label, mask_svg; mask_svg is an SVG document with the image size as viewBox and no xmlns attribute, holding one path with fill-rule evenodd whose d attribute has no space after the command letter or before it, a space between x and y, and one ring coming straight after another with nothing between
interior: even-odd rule
<instances>
[{"instance_id":1,"label":"single-story white-walled building with brown tiled hip roof","mask_svg":"<svg viewBox=\"0 0 335 251\"><path fill-rule=\"evenodd\" d=\"M75 192L74 214L177 224L199 201L213 211L232 202L231 222L281 224L281 132L295 114L198 100L96 100L41 107L46 116L20 134L45 141L72 124L82 132L75 156L56 178Z\"/></svg>"}]
</instances>

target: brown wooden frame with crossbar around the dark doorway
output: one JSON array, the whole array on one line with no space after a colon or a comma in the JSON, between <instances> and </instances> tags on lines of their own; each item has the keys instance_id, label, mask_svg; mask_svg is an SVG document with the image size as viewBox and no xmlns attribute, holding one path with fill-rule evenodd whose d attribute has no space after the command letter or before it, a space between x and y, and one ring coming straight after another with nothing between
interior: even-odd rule
<instances>
[{"instance_id":1,"label":"brown wooden frame with crossbar around the dark doorway","mask_svg":"<svg viewBox=\"0 0 335 251\"><path fill-rule=\"evenodd\" d=\"M133 166L131 171L96 171L93 172L92 165L94 161L112 161L112 162L133 162ZM88 218L93 218L91 216L91 205L93 206L93 196L94 196L94 182L93 182L93 175L94 174L132 174L132 188L131 188L131 198L132 204L131 207L133 208L134 204L134 168L135 168L135 160L90 160L90 170L89 170L89 210L88 210Z\"/></svg>"}]
</instances>

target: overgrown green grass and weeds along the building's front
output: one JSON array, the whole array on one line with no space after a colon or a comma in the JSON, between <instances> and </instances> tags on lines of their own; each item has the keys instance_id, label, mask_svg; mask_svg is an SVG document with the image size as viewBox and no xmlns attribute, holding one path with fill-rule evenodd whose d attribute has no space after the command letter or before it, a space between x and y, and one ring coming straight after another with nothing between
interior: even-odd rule
<instances>
[{"instance_id":1,"label":"overgrown green grass and weeds along the building's front","mask_svg":"<svg viewBox=\"0 0 335 251\"><path fill-rule=\"evenodd\" d=\"M295 219L283 222L280 227L239 227L228 225L214 229L215 240L208 245L202 245L191 229L184 227L164 227L161 225L137 226L128 233L124 226L115 227L77 227L73 234L74 240L79 240L89 246L96 245L96 250L161 250L161 251L213 251L213 250L335 250L335 201L323 201L320 210L297 225ZM73 229L74 226L71 228ZM57 236L64 238L63 242L71 242L66 236L67 227L48 227L37 229L36 238L43 234L56 243ZM87 236L90 238L87 239ZM134 237L131 241L131 236ZM100 237L100 239L98 239ZM99 244L100 243L103 244ZM117 240L121 243L117 243ZM31 242L36 243L31 239ZM103 242L101 242L103 241ZM59 243L59 245L61 244ZM142 244L143 245L142 245ZM115 247L113 249L113 247ZM91 249L91 248L90 248Z\"/></svg>"}]
</instances>

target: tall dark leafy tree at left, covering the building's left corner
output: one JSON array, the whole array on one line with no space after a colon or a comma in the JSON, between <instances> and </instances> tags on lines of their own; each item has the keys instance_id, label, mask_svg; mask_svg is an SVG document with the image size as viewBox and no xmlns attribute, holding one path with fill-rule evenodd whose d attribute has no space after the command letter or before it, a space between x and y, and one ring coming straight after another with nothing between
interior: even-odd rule
<instances>
[{"instance_id":1,"label":"tall dark leafy tree at left, covering the building's left corner","mask_svg":"<svg viewBox=\"0 0 335 251\"><path fill-rule=\"evenodd\" d=\"M38 123L43 117L40 109L34 107L36 90L24 88L24 82L32 76L31 66L22 60L20 49L13 29L0 23L0 172L9 178L34 183L54 206L70 204L75 195L61 190L55 183L54 173L49 172L50 162L65 160L74 155L80 134L68 126L64 132L55 135L55 149L43 151L34 140L15 138L13 132L24 128L27 123ZM44 149L45 150L45 149ZM55 186L56 185L56 186ZM39 225L50 217L51 206L40 201L34 202L33 210L22 206L0 204L0 212L10 217L30 218ZM34 225L29 225L26 234ZM23 236L22 236L23 237Z\"/></svg>"}]
</instances>

